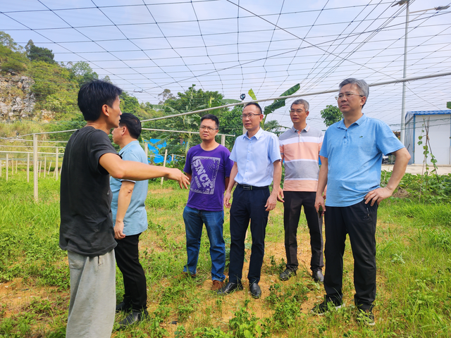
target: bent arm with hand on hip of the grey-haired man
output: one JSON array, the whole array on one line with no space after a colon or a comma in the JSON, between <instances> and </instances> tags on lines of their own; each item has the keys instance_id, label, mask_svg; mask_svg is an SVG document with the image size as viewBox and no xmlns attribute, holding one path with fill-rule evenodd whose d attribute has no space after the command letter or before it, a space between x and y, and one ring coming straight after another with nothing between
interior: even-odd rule
<instances>
[{"instance_id":1,"label":"bent arm with hand on hip of the grey-haired man","mask_svg":"<svg viewBox=\"0 0 451 338\"><path fill-rule=\"evenodd\" d=\"M396 156L395 165L393 165L393 172L390 176L390 180L388 180L387 186L371 190L371 192L366 194L365 204L369 204L370 201L371 206L373 206L375 202L380 204L381 201L392 196L397 184L400 184L402 176L404 176L404 173L406 172L407 163L409 163L410 160L410 154L407 149L401 148L393 152L393 155Z\"/></svg>"}]
</instances>

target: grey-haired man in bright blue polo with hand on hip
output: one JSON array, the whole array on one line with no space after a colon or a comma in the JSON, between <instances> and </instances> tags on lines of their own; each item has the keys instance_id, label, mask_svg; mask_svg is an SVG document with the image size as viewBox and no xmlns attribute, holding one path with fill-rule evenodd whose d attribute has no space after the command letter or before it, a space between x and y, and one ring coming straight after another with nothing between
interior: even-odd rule
<instances>
[{"instance_id":1,"label":"grey-haired man in bright blue polo with hand on hip","mask_svg":"<svg viewBox=\"0 0 451 338\"><path fill-rule=\"evenodd\" d=\"M374 325L378 204L393 194L410 155L388 125L362 113L368 94L369 87L364 80L350 78L340 83L335 99L343 119L328 127L319 153L322 165L315 207L323 209L326 227L326 296L311 312L323 315L331 306L342 306L343 253L349 234L354 256L357 320ZM386 187L379 185L383 154L396 156ZM325 204L322 194L326 184Z\"/></svg>"}]
</instances>

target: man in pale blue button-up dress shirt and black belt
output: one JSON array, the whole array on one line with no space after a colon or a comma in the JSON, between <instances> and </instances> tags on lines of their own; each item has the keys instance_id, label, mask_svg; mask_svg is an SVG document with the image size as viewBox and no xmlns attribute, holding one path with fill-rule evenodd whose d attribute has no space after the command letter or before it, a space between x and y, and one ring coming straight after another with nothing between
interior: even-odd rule
<instances>
[{"instance_id":1,"label":"man in pale blue button-up dress shirt and black belt","mask_svg":"<svg viewBox=\"0 0 451 338\"><path fill-rule=\"evenodd\" d=\"M249 262L249 289L254 298L261 296L259 287L264 257L264 239L269 211L276 207L282 174L278 138L261 129L261 107L250 103L242 111L242 123L247 132L235 140L230 159L234 162L230 182L224 195L224 206L230 208L229 281L218 294L242 289L242 268L245 260L245 236L249 219L252 233L252 253ZM233 203L230 194L233 186ZM273 191L269 185L273 182Z\"/></svg>"}]
</instances>

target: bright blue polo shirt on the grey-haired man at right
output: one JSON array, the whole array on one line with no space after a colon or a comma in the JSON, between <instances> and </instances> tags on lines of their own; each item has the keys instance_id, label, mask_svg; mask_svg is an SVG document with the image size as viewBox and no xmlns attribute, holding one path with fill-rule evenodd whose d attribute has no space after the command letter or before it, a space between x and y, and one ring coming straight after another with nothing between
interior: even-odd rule
<instances>
[{"instance_id":1,"label":"bright blue polo shirt on the grey-haired man at right","mask_svg":"<svg viewBox=\"0 0 451 338\"><path fill-rule=\"evenodd\" d=\"M326 206L352 206L381 184L382 154L404 145L381 120L362 115L345 127L334 123L324 134L319 154L328 158Z\"/></svg>"}]
</instances>

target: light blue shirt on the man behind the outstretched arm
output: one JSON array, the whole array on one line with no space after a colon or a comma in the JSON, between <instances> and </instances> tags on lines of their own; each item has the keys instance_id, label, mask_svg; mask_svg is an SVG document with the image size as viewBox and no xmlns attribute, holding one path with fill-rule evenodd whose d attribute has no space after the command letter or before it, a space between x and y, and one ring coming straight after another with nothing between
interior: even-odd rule
<instances>
[{"instance_id":1,"label":"light blue shirt on the man behind the outstretched arm","mask_svg":"<svg viewBox=\"0 0 451 338\"><path fill-rule=\"evenodd\" d=\"M135 161L148 164L146 153L140 146L140 142L132 141L119 151L124 161ZM111 212L113 213L113 225L116 223L116 214L118 213L118 196L123 180L118 180L110 177L110 187L113 193L113 200L111 201ZM135 181L130 181L135 182ZM147 197L147 180L136 181L133 188L132 199L128 206L127 213L124 218L125 236L132 236L133 234L140 234L147 229L147 211L144 206L144 201Z\"/></svg>"}]
</instances>

